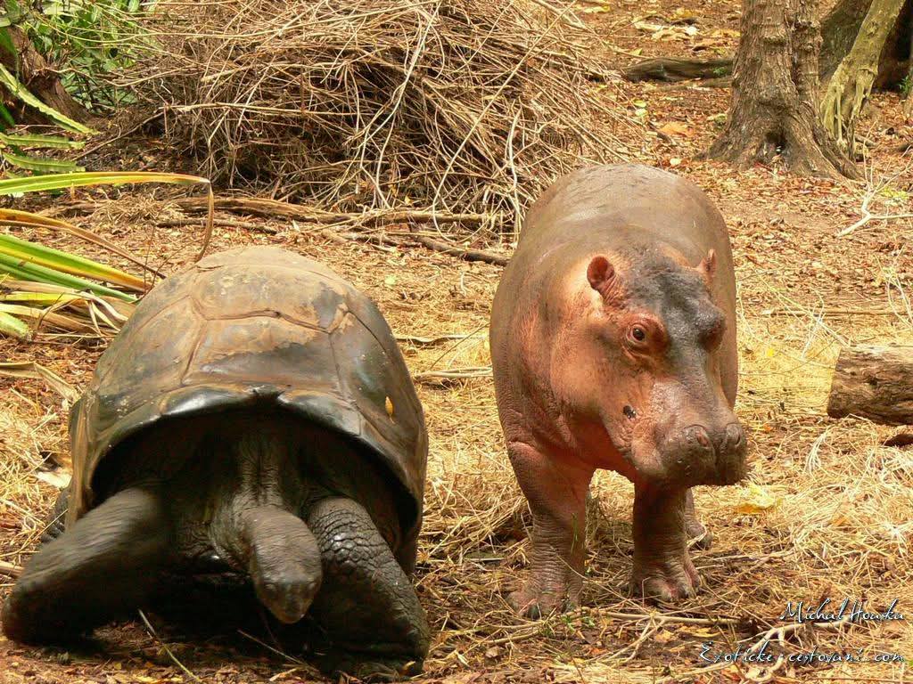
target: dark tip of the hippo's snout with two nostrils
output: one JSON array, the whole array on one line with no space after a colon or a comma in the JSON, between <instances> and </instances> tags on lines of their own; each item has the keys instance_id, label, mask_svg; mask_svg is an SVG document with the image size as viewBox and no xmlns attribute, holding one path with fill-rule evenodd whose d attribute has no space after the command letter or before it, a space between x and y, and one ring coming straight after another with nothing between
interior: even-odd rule
<instances>
[{"instance_id":1,"label":"dark tip of the hippo's snout with two nostrils","mask_svg":"<svg viewBox=\"0 0 913 684\"><path fill-rule=\"evenodd\" d=\"M689 425L666 441L670 480L694 484L732 484L745 474L745 430L730 422L717 430Z\"/></svg>"}]
</instances>

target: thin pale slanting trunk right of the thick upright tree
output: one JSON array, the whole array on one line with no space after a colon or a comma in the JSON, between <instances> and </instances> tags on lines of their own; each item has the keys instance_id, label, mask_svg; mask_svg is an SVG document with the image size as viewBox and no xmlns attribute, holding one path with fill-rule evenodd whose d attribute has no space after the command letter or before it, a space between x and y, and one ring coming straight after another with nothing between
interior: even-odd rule
<instances>
[{"instance_id":1,"label":"thin pale slanting trunk right of the thick upright tree","mask_svg":"<svg viewBox=\"0 0 913 684\"><path fill-rule=\"evenodd\" d=\"M878 73L887 36L905 0L874 0L853 47L841 60L821 101L824 129L842 150L854 150L855 119L865 106Z\"/></svg>"}]
</instances>

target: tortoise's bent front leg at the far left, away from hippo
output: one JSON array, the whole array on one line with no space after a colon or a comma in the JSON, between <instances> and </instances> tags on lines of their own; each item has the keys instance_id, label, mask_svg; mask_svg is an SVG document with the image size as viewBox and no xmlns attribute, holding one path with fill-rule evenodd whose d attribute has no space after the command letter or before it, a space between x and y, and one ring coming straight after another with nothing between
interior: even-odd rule
<instances>
[{"instance_id":1,"label":"tortoise's bent front leg at the far left, away from hippo","mask_svg":"<svg viewBox=\"0 0 913 684\"><path fill-rule=\"evenodd\" d=\"M114 494L28 562L3 606L6 636L65 641L141 607L168 561L172 538L157 488Z\"/></svg>"}]
</instances>

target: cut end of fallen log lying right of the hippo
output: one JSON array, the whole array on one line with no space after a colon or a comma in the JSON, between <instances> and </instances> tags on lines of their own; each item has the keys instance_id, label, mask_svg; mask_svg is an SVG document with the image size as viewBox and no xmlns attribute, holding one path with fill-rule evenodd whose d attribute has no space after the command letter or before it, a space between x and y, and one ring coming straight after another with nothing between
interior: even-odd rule
<instances>
[{"instance_id":1,"label":"cut end of fallen log lying right of the hippo","mask_svg":"<svg viewBox=\"0 0 913 684\"><path fill-rule=\"evenodd\" d=\"M913 347L843 349L834 369L827 415L913 425Z\"/></svg>"}]
</instances>

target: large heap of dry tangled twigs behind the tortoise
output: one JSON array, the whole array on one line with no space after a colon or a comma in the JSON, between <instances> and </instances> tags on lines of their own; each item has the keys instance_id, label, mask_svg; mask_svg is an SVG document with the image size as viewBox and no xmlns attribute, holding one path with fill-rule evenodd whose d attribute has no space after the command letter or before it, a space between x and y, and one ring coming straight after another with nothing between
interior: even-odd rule
<instances>
[{"instance_id":1,"label":"large heap of dry tangled twigs behind the tortoise","mask_svg":"<svg viewBox=\"0 0 913 684\"><path fill-rule=\"evenodd\" d=\"M602 67L569 12L544 0L166 2L163 51L139 68L175 144L216 181L332 211L415 206L513 227L556 175L624 156L613 122L630 123L594 97Z\"/></svg>"}]
</instances>

